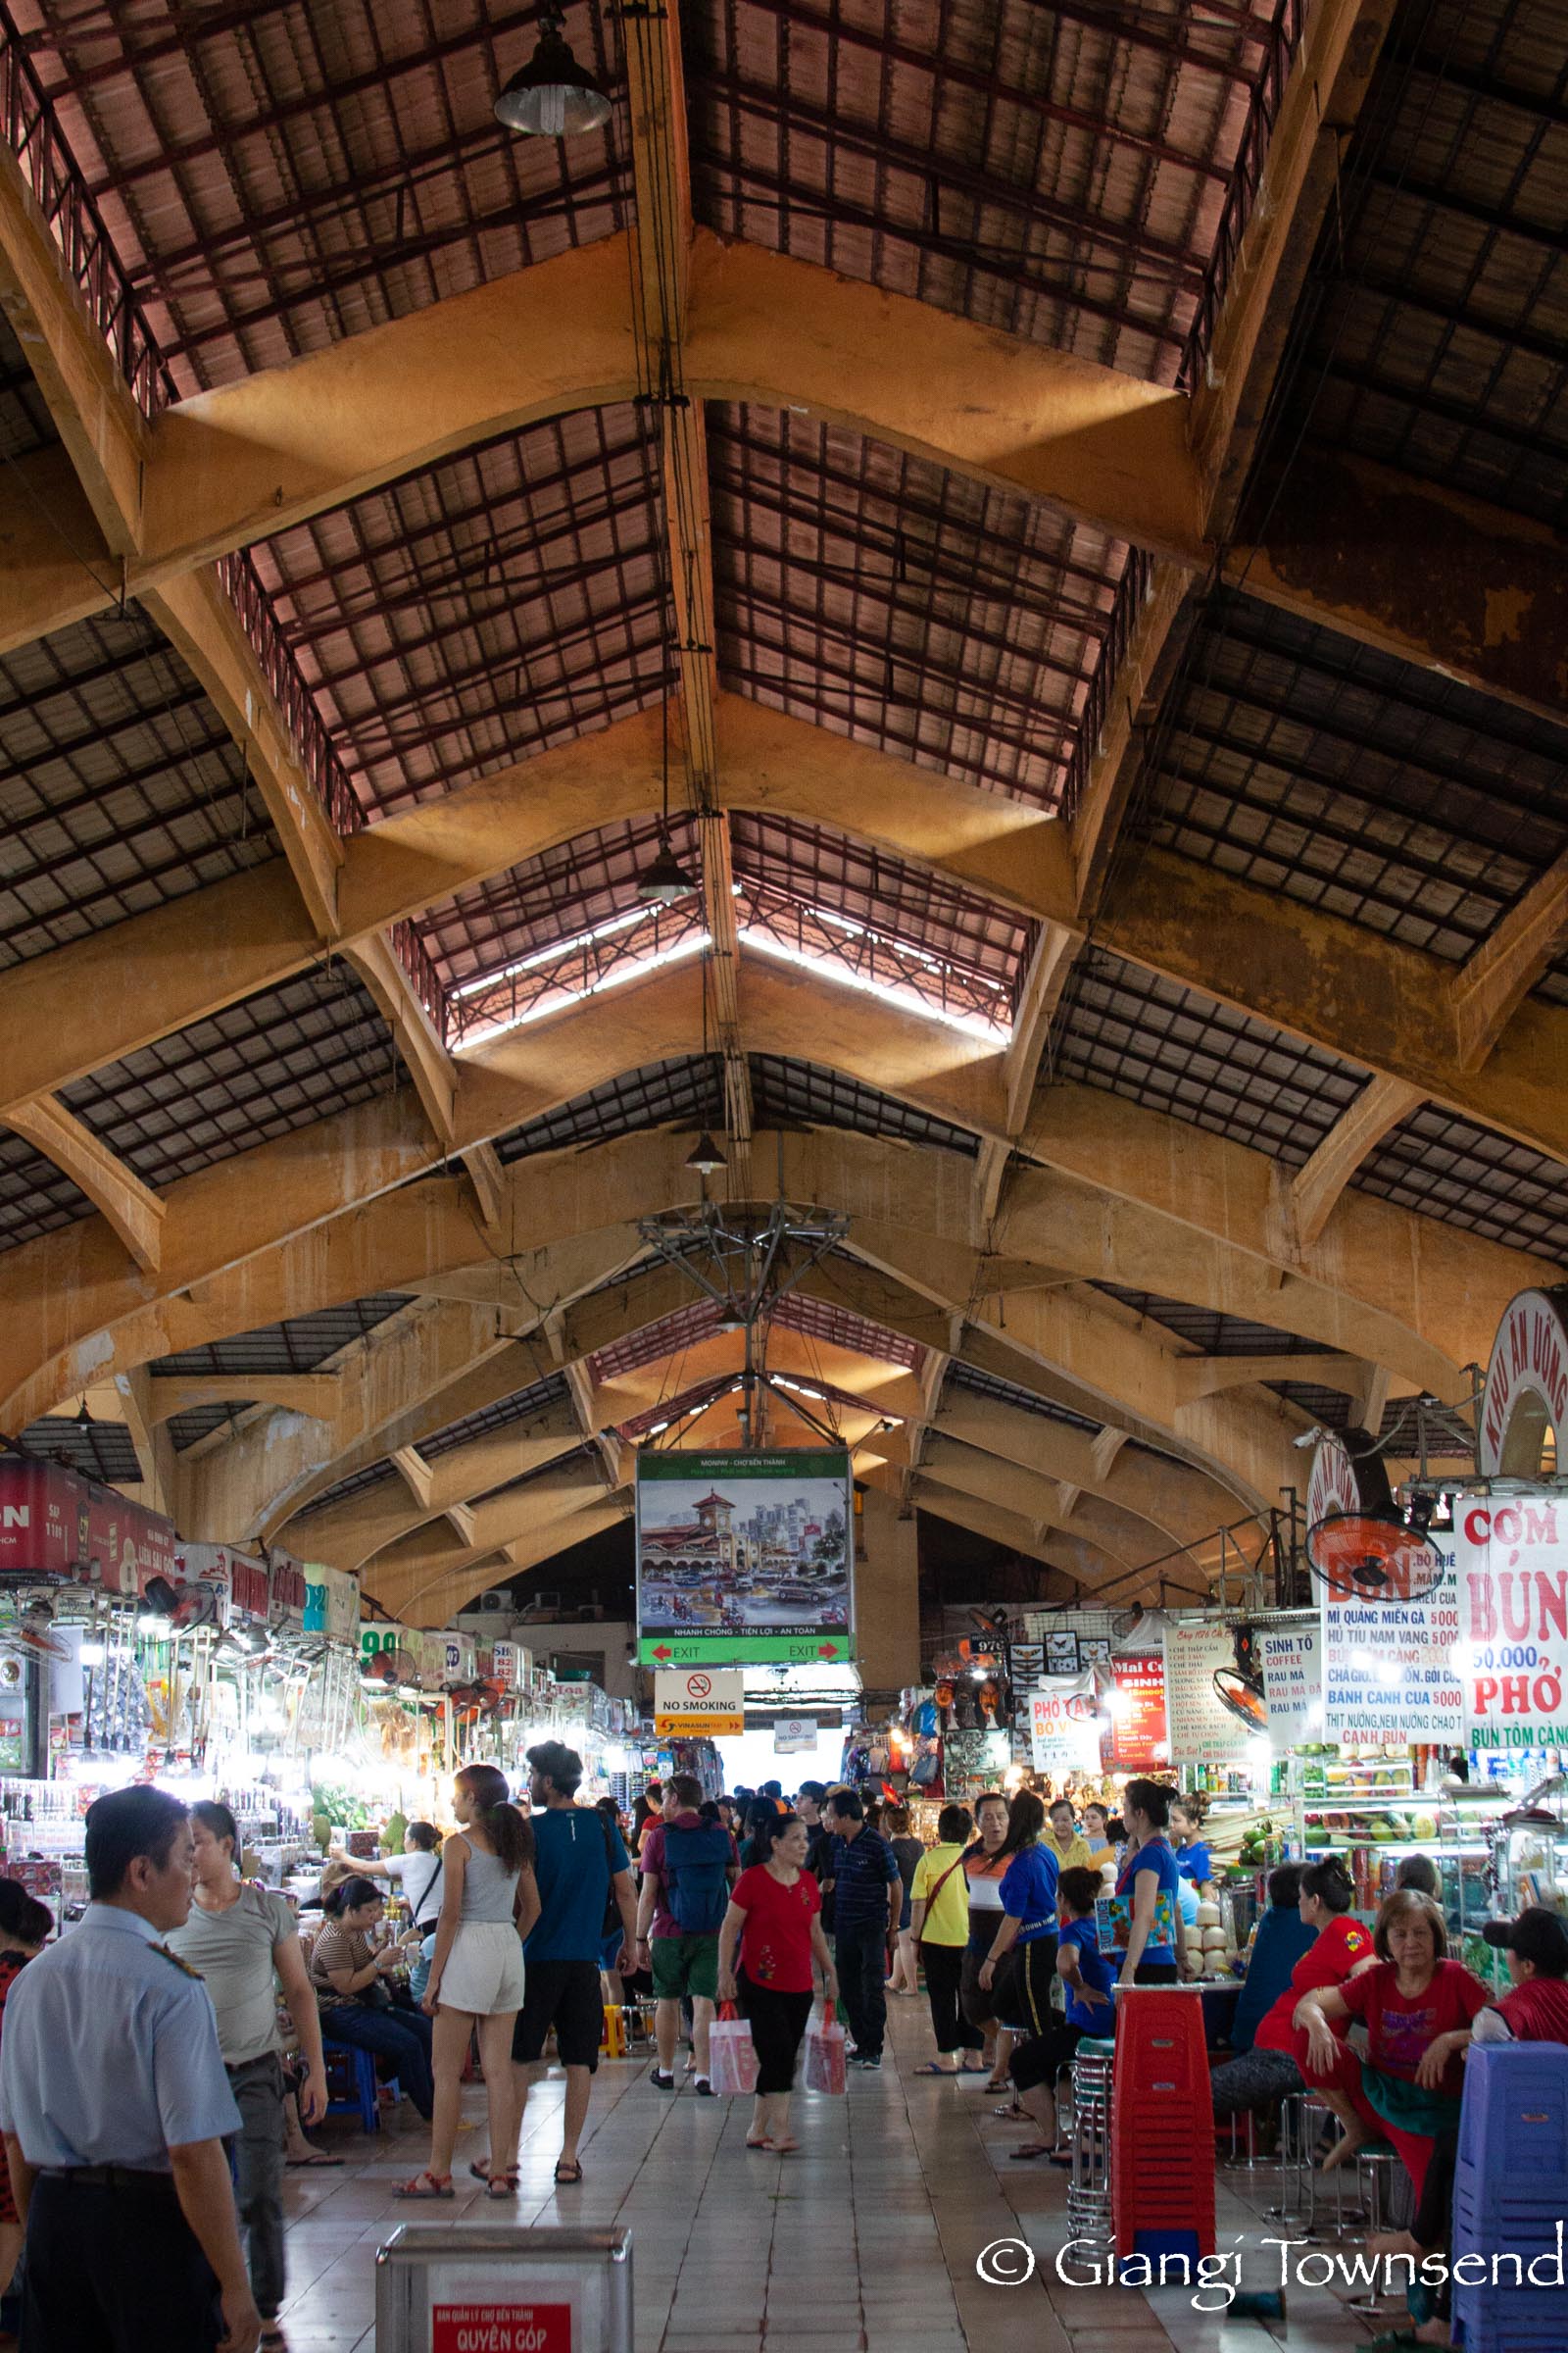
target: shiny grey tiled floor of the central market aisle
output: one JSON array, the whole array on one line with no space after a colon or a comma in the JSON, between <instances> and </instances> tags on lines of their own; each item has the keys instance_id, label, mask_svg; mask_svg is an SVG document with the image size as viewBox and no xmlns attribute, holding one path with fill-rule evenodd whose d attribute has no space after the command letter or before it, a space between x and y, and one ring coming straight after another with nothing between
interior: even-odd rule
<instances>
[{"instance_id":1,"label":"shiny grey tiled floor of the central market aisle","mask_svg":"<svg viewBox=\"0 0 1568 2353\"><path fill-rule=\"evenodd\" d=\"M404 2106L374 2139L331 2122L317 2139L341 2172L289 2174L294 2353L369 2353L374 2257L400 2221L625 2224L632 2231L637 2353L1342 2353L1366 2329L1328 2287L1288 2289L1288 2327L1194 2313L1178 2287L1065 2285L1065 2184L1056 2167L1011 2165L1016 2127L994 2099L917 2078L929 2057L924 2002L893 2002L882 2075L853 2075L846 2099L797 2099L795 2158L745 2151L750 2101L661 2094L646 2059L597 2078L585 2181L555 2191L559 2078L529 2101L517 2207L477 2184L454 2205L407 2207L393 2186L423 2162L423 2127ZM482 2089L468 2094L475 2120ZM458 2144L458 2167L484 2148ZM458 2174L458 2179L465 2179ZM1220 2174L1220 2249L1248 2287L1279 2285L1284 2226L1262 2219L1274 2174ZM1251 2200L1237 2191L1251 2188ZM976 2261L1018 2285L987 2285ZM1027 2249L1027 2252L1025 2252ZM1354 2252L1349 2247L1347 2252ZM1385 2322L1387 2325L1387 2322Z\"/></svg>"}]
</instances>

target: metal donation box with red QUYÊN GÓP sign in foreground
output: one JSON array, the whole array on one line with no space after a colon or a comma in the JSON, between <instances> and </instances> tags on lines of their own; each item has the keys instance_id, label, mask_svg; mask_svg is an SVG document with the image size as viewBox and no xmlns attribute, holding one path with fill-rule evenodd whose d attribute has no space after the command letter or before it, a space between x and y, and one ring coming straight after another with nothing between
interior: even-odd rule
<instances>
[{"instance_id":1,"label":"metal donation box with red QUY\u00caN G\u00d3P sign in foreground","mask_svg":"<svg viewBox=\"0 0 1568 2353\"><path fill-rule=\"evenodd\" d=\"M632 2233L393 2231L376 2353L632 2353Z\"/></svg>"}]
</instances>

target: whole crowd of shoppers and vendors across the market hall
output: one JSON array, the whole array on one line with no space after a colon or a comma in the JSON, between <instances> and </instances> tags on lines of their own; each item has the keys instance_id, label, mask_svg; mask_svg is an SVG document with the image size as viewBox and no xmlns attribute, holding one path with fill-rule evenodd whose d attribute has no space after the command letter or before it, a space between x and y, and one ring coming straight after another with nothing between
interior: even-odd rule
<instances>
[{"instance_id":1,"label":"whole crowd of shoppers and vendors across the market hall","mask_svg":"<svg viewBox=\"0 0 1568 2353\"><path fill-rule=\"evenodd\" d=\"M1178 1882L1201 1887L1213 1868L1194 1809L1143 1779L1121 1824L1086 1807L1079 1828L1065 1800L1046 1812L1032 1791L987 1791L973 1814L943 1807L922 1847L903 1809L853 1788L806 1784L792 1812L778 1786L708 1802L672 1774L632 1833L635 1892L616 1809L578 1805L581 1777L576 1751L531 1748L524 1814L501 1772L465 1767L444 1845L416 1824L393 1859L402 1871L334 1875L308 1960L289 1899L240 1878L221 1805L188 1812L153 1788L101 1798L87 1814L92 1901L54 1946L49 1913L0 1880L0 2294L26 2228L28 2353L280 2348L284 2146L320 2120L334 2047L371 2052L430 2122L428 2165L400 2193L414 2200L451 2198L477 2049L489 2153L470 2172L505 2200L552 2035L567 2078L555 2179L581 2181L611 1920L618 1967L654 1986L661 2092L677 2089L684 2028L693 2089L712 2097L715 2005L745 2014L748 2148L797 2148L790 2099L813 2005L844 2002L851 2064L875 2073L889 1984L910 1991L924 1969L936 2057L917 2073L983 2075L990 2061L987 2082L1011 2087L999 2113L1032 2127L1011 2155L1065 2162L1063 2068L1084 2035L1112 2033L1119 1988L1175 1984ZM1100 1852L1114 1857L1119 1951L1100 1948ZM407 1944L383 1934L388 1880L402 1882ZM1392 2146L1415 2219L1373 2245L1396 2254L1446 2245L1469 2045L1568 2042L1568 1927L1542 1911L1493 1922L1512 1979L1493 1995L1410 1880L1368 1929L1335 1857L1274 1871L1229 2052L1211 2071L1215 2115L1321 2092L1342 2125L1328 2165L1371 2139ZM425 1962L418 1995L402 1984L409 1944ZM284 2035L301 2066L294 2127ZM1418 2341L1446 2341L1441 2311Z\"/></svg>"}]
</instances>

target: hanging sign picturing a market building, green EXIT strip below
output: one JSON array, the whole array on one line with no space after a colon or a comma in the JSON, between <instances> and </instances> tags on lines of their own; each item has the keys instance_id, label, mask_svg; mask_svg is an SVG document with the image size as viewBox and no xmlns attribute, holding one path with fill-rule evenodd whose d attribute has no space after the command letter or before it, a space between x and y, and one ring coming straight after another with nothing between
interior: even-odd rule
<instances>
[{"instance_id":1,"label":"hanging sign picturing a market building, green EXIT strip below","mask_svg":"<svg viewBox=\"0 0 1568 2353\"><path fill-rule=\"evenodd\" d=\"M853 1635L842 1449L637 1457L637 1657L651 1668L842 1664Z\"/></svg>"}]
</instances>

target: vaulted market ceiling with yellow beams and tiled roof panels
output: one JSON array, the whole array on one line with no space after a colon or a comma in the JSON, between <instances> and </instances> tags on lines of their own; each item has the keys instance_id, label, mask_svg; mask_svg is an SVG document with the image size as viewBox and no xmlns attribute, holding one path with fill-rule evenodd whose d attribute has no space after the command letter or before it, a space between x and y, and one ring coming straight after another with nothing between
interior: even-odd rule
<instances>
[{"instance_id":1,"label":"vaulted market ceiling with yellow beams and tiled roof panels","mask_svg":"<svg viewBox=\"0 0 1568 2353\"><path fill-rule=\"evenodd\" d=\"M712 1129L776 1435L1201 1591L1568 1264L1568 7L534 38L0 0L0 1428L440 1619Z\"/></svg>"}]
</instances>

